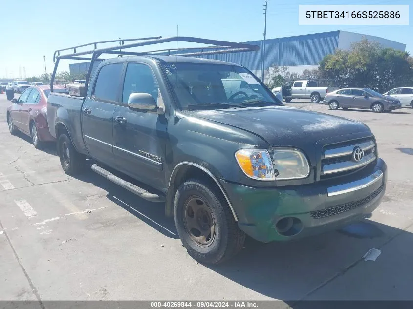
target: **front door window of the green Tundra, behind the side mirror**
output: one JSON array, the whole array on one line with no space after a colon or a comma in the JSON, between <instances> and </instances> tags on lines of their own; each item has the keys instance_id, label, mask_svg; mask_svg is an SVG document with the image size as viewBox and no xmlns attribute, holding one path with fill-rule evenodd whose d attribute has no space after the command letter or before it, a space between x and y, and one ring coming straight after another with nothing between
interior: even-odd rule
<instances>
[{"instance_id":1,"label":"front door window of the green Tundra, behind the side mirror","mask_svg":"<svg viewBox=\"0 0 413 309\"><path fill-rule=\"evenodd\" d=\"M148 65L128 63L123 84L122 103L128 103L130 94L137 92L149 93L157 102L158 89L158 83Z\"/></svg>"}]
</instances>

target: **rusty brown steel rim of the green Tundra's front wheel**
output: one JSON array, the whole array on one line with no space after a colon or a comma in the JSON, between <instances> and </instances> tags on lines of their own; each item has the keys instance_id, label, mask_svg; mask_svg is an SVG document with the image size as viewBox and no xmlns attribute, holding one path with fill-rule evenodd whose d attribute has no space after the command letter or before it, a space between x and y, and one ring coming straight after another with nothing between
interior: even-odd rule
<instances>
[{"instance_id":1,"label":"rusty brown steel rim of the green Tundra's front wheel","mask_svg":"<svg viewBox=\"0 0 413 309\"><path fill-rule=\"evenodd\" d=\"M215 218L208 204L198 196L185 202L184 223L188 235L200 247L212 244L216 235Z\"/></svg>"}]
</instances>

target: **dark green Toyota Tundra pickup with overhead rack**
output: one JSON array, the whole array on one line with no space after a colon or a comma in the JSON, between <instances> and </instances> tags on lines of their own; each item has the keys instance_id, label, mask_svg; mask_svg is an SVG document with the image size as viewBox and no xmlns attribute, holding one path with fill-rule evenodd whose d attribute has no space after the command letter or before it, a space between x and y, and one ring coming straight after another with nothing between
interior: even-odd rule
<instances>
[{"instance_id":1,"label":"dark green Toyota Tundra pickup with overhead rack","mask_svg":"<svg viewBox=\"0 0 413 309\"><path fill-rule=\"evenodd\" d=\"M228 97L228 76L256 97L241 83ZM165 202L183 246L203 263L236 254L245 234L289 241L340 228L370 216L385 194L387 167L368 126L284 107L240 65L117 57L99 62L86 89L47 100L65 173L85 171L91 157L94 172Z\"/></svg>"}]
</instances>

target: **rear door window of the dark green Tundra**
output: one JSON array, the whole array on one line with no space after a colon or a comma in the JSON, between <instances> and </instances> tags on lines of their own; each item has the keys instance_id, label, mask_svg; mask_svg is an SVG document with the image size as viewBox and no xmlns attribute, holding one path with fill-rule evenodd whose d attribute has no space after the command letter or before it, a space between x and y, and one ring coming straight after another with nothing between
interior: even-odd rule
<instances>
[{"instance_id":1,"label":"rear door window of the dark green Tundra","mask_svg":"<svg viewBox=\"0 0 413 309\"><path fill-rule=\"evenodd\" d=\"M103 66L96 80L93 95L102 101L116 101L123 63Z\"/></svg>"}]
</instances>

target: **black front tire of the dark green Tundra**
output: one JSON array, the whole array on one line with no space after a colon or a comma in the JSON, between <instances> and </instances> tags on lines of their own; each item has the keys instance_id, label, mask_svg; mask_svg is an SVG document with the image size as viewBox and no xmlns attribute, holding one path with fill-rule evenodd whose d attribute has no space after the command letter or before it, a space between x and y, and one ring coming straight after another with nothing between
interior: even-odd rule
<instances>
[{"instance_id":1,"label":"black front tire of the dark green Tundra","mask_svg":"<svg viewBox=\"0 0 413 309\"><path fill-rule=\"evenodd\" d=\"M199 198L205 201L214 222L214 236L207 246L194 240L194 234L188 231L187 211L189 203ZM194 219L196 215L193 214ZM174 218L182 245L196 261L205 264L218 264L236 255L244 244L242 232L222 192L211 181L189 179L176 191L174 200Z\"/></svg>"}]
</instances>

